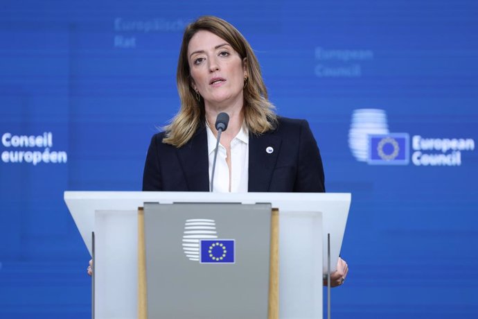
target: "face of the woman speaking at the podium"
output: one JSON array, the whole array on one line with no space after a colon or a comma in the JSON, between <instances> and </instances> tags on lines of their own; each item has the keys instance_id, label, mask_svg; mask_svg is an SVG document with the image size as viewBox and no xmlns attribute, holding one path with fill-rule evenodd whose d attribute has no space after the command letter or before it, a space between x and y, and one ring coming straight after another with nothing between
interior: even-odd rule
<instances>
[{"instance_id":1,"label":"face of the woman speaking at the podium","mask_svg":"<svg viewBox=\"0 0 478 319\"><path fill-rule=\"evenodd\" d=\"M188 45L191 85L204 98L206 109L242 107L245 62L218 35L198 31Z\"/></svg>"}]
</instances>

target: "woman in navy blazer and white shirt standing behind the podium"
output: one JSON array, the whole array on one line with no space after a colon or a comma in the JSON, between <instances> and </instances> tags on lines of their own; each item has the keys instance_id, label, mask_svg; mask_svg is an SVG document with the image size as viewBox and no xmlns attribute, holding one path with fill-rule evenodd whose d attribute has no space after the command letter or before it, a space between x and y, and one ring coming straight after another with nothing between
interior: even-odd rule
<instances>
[{"instance_id":1,"label":"woman in navy blazer and white shirt standing behind the podium","mask_svg":"<svg viewBox=\"0 0 478 319\"><path fill-rule=\"evenodd\" d=\"M213 191L323 192L324 170L307 121L277 117L251 46L227 21L200 17L184 31L177 65L181 109L148 149L143 191L209 191L220 112ZM339 259L332 286L344 282Z\"/></svg>"}]
</instances>

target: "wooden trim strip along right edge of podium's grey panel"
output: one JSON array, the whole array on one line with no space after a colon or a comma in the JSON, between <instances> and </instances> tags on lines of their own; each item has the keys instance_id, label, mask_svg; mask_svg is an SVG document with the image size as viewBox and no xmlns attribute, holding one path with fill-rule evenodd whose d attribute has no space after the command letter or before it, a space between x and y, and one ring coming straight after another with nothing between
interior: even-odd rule
<instances>
[{"instance_id":1,"label":"wooden trim strip along right edge of podium's grey panel","mask_svg":"<svg viewBox=\"0 0 478 319\"><path fill-rule=\"evenodd\" d=\"M279 299L278 299L278 209L273 208L271 214L271 247L270 247L270 266L269 266L269 308L267 311L268 319L278 319Z\"/></svg>"}]
</instances>

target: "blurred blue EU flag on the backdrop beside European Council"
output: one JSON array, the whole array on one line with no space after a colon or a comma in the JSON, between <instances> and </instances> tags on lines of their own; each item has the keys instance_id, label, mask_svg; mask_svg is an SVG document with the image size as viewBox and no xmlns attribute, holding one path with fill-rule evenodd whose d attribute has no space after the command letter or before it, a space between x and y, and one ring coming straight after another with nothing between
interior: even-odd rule
<instances>
[{"instance_id":1,"label":"blurred blue EU flag on the backdrop beside European Council","mask_svg":"<svg viewBox=\"0 0 478 319\"><path fill-rule=\"evenodd\" d=\"M372 165L407 165L409 162L408 133L369 135L369 159Z\"/></svg>"}]
</instances>

